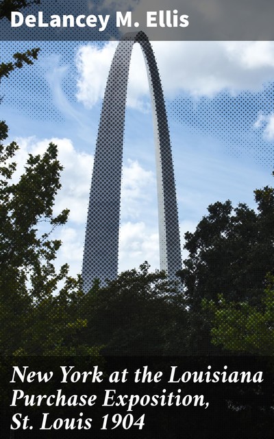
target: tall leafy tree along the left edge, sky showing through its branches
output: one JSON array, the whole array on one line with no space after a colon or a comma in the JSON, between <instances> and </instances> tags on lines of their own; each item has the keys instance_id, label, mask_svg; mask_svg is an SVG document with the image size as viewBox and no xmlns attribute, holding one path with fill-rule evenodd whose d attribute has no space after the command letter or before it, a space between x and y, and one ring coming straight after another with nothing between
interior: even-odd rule
<instances>
[{"instance_id":1,"label":"tall leafy tree along the left edge, sky showing through its branches","mask_svg":"<svg viewBox=\"0 0 274 439\"><path fill-rule=\"evenodd\" d=\"M0 123L0 349L2 355L94 353L77 335L86 327L78 314L81 279L69 266L56 272L61 246L51 239L65 224L68 209L53 215L62 166L49 144L43 155L29 154L25 172L14 182L15 142L3 145L8 127ZM60 283L63 286L60 286Z\"/></svg>"}]
</instances>

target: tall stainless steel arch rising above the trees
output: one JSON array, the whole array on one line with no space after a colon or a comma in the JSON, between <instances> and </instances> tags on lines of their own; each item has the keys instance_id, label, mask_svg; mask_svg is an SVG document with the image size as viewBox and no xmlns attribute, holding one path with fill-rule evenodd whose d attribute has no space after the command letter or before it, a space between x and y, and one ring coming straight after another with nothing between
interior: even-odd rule
<instances>
[{"instance_id":1,"label":"tall stainless steel arch rising above the trees","mask_svg":"<svg viewBox=\"0 0 274 439\"><path fill-rule=\"evenodd\" d=\"M155 56L144 32L127 34L119 43L112 60L103 98L101 119L90 187L82 276L84 291L95 278L103 283L114 279L118 270L119 217L123 134L129 62L134 43L139 43L147 65L153 111L160 269L175 278L182 268L179 222L169 126L164 95Z\"/></svg>"}]
</instances>

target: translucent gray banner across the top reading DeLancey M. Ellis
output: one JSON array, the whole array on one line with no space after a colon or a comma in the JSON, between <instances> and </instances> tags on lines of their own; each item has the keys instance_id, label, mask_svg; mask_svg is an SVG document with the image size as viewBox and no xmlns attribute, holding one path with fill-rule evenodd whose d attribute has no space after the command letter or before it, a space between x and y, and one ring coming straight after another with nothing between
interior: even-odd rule
<instances>
[{"instance_id":1,"label":"translucent gray banner across the top reading DeLancey M. Ellis","mask_svg":"<svg viewBox=\"0 0 274 439\"><path fill-rule=\"evenodd\" d=\"M274 40L271 0L40 0L17 11L2 5L1 40L120 40L138 30L150 40Z\"/></svg>"}]
</instances>

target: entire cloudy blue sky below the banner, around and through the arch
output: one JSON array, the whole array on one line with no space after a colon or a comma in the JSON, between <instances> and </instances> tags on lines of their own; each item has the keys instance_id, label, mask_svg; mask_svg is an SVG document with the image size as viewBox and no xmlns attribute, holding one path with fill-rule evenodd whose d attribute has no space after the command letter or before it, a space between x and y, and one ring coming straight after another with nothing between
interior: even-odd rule
<instances>
[{"instance_id":1,"label":"entire cloudy blue sky below the banner, around and through the arch","mask_svg":"<svg viewBox=\"0 0 274 439\"><path fill-rule=\"evenodd\" d=\"M50 140L64 165L55 211L71 209L58 232L57 263L80 272L88 189L101 99L116 43L1 43L3 61L40 47L38 61L1 82L1 118L18 139L18 172L28 152ZM228 198L254 206L253 189L273 185L274 44L153 43L169 116L182 233L208 204ZM184 255L186 253L184 252ZM155 158L145 63L132 56L125 123L120 270L145 259L158 268Z\"/></svg>"}]
</instances>

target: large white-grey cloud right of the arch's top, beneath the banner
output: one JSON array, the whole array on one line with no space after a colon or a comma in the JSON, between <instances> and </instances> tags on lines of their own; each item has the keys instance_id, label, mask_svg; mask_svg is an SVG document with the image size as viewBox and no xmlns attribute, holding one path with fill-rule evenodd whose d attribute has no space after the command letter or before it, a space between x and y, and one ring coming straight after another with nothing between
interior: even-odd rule
<instances>
[{"instance_id":1,"label":"large white-grey cloud right of the arch's top, beneath the banner","mask_svg":"<svg viewBox=\"0 0 274 439\"><path fill-rule=\"evenodd\" d=\"M164 91L213 97L258 90L274 75L274 43L194 41L153 43ZM263 55L262 55L263 54Z\"/></svg>"}]
</instances>

